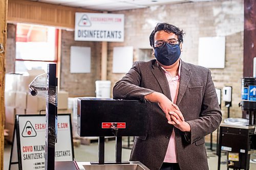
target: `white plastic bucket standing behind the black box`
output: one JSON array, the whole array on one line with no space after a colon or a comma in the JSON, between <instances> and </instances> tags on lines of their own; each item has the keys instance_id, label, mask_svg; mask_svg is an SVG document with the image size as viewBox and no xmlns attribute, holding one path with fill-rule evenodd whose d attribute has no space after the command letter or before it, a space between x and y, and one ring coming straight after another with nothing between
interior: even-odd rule
<instances>
[{"instance_id":1,"label":"white plastic bucket standing behind the black box","mask_svg":"<svg viewBox=\"0 0 256 170\"><path fill-rule=\"evenodd\" d=\"M96 84L96 98L110 98L111 81L97 80Z\"/></svg>"}]
</instances>

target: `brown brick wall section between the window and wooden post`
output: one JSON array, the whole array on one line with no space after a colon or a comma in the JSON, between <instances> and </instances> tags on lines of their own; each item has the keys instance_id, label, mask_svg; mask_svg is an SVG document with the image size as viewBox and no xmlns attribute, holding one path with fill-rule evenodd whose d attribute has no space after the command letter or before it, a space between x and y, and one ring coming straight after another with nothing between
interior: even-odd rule
<instances>
[{"instance_id":1,"label":"brown brick wall section between the window and wooden post","mask_svg":"<svg viewBox=\"0 0 256 170\"><path fill-rule=\"evenodd\" d=\"M70 96L95 96L95 81L100 80L101 42L75 41L73 31L61 31L60 89ZM91 73L70 73L70 47L91 47Z\"/></svg>"}]
</instances>

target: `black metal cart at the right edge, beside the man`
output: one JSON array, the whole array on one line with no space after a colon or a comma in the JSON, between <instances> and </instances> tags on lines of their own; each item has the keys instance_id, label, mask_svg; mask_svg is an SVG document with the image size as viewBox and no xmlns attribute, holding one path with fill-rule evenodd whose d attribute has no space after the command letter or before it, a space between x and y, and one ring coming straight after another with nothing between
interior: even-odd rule
<instances>
[{"instance_id":1,"label":"black metal cart at the right edge, beside the man","mask_svg":"<svg viewBox=\"0 0 256 170\"><path fill-rule=\"evenodd\" d=\"M255 126L221 124L218 144L218 170L221 151L227 151L227 169L249 169L250 154L256 153Z\"/></svg>"}]
</instances>

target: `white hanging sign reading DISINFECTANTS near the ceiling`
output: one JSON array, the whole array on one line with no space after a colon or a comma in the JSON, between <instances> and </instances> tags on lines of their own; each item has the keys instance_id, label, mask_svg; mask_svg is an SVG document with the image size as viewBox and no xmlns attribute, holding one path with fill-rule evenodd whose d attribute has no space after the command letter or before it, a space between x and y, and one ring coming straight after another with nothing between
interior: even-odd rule
<instances>
[{"instance_id":1,"label":"white hanging sign reading DISINFECTANTS near the ceiling","mask_svg":"<svg viewBox=\"0 0 256 170\"><path fill-rule=\"evenodd\" d=\"M76 12L75 40L123 42L124 15Z\"/></svg>"}]
</instances>

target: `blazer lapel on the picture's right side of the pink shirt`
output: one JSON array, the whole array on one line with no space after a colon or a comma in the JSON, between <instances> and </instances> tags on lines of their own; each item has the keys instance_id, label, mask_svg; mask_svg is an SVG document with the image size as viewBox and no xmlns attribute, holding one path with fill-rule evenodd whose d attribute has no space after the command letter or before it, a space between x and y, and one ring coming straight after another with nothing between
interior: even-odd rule
<instances>
[{"instance_id":1,"label":"blazer lapel on the picture's right side of the pink shirt","mask_svg":"<svg viewBox=\"0 0 256 170\"><path fill-rule=\"evenodd\" d=\"M189 71L188 65L181 61L181 69L180 69L180 86L179 86L179 92L177 96L176 105L180 104L180 101L186 91L186 88L188 86L189 80L191 77L191 72Z\"/></svg>"}]
</instances>

